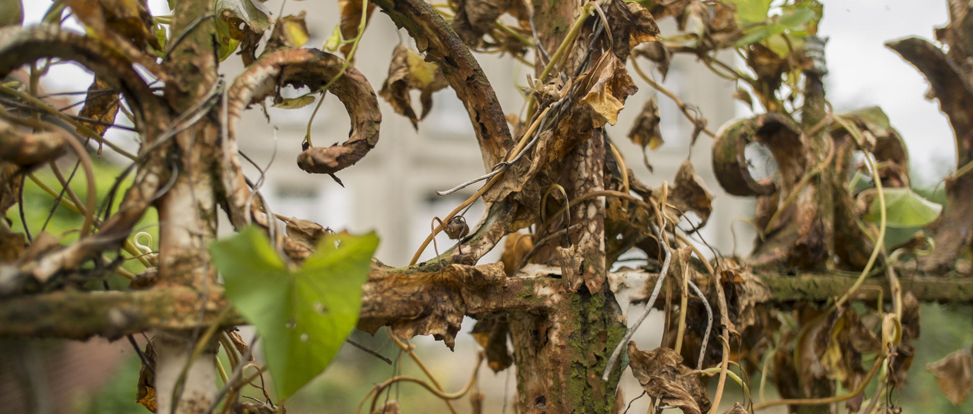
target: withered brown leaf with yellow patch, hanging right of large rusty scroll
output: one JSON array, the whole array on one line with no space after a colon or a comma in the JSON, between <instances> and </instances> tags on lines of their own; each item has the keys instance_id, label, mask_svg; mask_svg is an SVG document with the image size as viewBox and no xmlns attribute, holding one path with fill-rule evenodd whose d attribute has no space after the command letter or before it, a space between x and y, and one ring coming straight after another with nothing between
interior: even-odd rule
<instances>
[{"instance_id":1,"label":"withered brown leaf with yellow patch, hanging right of large rusty scroll","mask_svg":"<svg viewBox=\"0 0 973 414\"><path fill-rule=\"evenodd\" d=\"M435 63L426 62L418 52L399 44L392 51L392 61L388 65L388 78L381 84L378 94L385 99L399 115L409 118L413 127L418 129L418 121L424 119L432 109L432 93L449 84L443 72ZM415 117L409 91L421 91L419 102L422 114Z\"/></svg>"}]
</instances>

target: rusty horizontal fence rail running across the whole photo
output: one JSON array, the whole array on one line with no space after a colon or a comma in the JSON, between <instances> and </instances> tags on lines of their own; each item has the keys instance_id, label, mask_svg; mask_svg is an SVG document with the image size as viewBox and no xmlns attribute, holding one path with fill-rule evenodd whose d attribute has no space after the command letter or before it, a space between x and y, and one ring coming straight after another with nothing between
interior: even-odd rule
<instances>
[{"instance_id":1,"label":"rusty horizontal fence rail running across the whole photo","mask_svg":"<svg viewBox=\"0 0 973 414\"><path fill-rule=\"evenodd\" d=\"M560 268L528 264L513 277L501 263L475 266L451 264L432 273L399 273L403 269L374 266L363 287L359 328L375 331L390 326L401 336L432 334L451 345L464 316L480 317L494 312L540 314L569 298L560 281ZM712 278L691 271L703 294L712 296ZM623 269L609 273L616 300L644 302L655 284L656 273ZM900 275L904 292L923 302L973 302L973 278ZM834 273L740 273L733 282L734 300L783 304L824 301L847 292L855 277ZM854 300L875 300L890 290L883 277L867 279ZM739 303L738 303L739 304ZM201 313L200 307L205 309ZM131 292L55 292L0 300L0 337L64 337L85 339L98 335L118 338L151 328L188 329L218 323L228 306L222 292L199 293L187 289ZM245 322L234 312L220 322L226 326Z\"/></svg>"}]
</instances>

